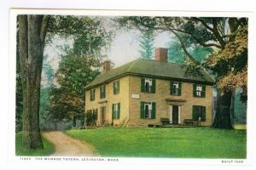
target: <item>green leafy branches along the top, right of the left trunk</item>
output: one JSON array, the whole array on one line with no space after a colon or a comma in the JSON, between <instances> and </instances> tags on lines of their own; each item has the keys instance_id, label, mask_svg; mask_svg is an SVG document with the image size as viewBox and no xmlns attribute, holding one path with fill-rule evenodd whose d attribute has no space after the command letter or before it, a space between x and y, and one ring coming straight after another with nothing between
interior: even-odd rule
<instances>
[{"instance_id":1,"label":"green leafy branches along the top, right of the left trunk","mask_svg":"<svg viewBox=\"0 0 256 170\"><path fill-rule=\"evenodd\" d=\"M112 32L103 28L101 17L55 15L49 20L48 41L54 35L73 37L73 52L86 55L96 54L108 46Z\"/></svg>"}]
</instances>

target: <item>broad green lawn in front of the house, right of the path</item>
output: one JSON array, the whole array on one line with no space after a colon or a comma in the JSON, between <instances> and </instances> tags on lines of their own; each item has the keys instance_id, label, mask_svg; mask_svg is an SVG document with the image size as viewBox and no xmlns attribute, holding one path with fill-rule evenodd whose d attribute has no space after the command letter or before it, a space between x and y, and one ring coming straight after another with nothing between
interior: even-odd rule
<instances>
[{"instance_id":1,"label":"broad green lawn in front of the house, right of the path","mask_svg":"<svg viewBox=\"0 0 256 170\"><path fill-rule=\"evenodd\" d=\"M246 131L210 127L69 130L94 145L101 156L246 158Z\"/></svg>"}]
</instances>

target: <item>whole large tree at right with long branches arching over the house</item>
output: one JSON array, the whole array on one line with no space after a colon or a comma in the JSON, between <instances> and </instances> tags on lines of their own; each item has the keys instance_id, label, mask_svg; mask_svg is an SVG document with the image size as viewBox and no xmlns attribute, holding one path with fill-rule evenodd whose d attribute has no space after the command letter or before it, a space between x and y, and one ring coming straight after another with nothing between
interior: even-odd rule
<instances>
[{"instance_id":1,"label":"whole large tree at right with long branches arching over the house","mask_svg":"<svg viewBox=\"0 0 256 170\"><path fill-rule=\"evenodd\" d=\"M233 89L219 86L219 82L228 79L232 82L232 75L237 77L241 74L247 77L247 31L243 31L243 36L239 35L239 30L247 27L247 18L198 18L198 17L123 17L119 19L121 26L136 27L139 30L170 31L177 37L183 48L183 53L196 67L207 67L214 71L218 82L219 98L218 110L215 116L213 127L232 128L230 121L230 100ZM240 42L236 39L241 37ZM217 65L201 64L189 53L189 46L201 46L212 48L213 55L209 60L218 60ZM231 57L224 57L227 54ZM216 59L214 59L216 58ZM232 61L231 63L228 61ZM243 73L245 72L245 73ZM247 78L245 78L247 80ZM236 81L237 82L237 81ZM229 86L230 83L226 83ZM247 82L237 83L236 87L243 88L244 96L247 96ZM218 120L218 121L217 121Z\"/></svg>"}]
</instances>

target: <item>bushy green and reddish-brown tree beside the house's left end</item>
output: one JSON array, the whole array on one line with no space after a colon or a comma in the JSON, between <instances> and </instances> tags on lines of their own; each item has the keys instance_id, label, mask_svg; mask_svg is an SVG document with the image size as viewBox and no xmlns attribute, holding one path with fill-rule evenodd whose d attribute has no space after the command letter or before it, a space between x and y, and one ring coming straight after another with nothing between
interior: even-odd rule
<instances>
[{"instance_id":1,"label":"bushy green and reddish-brown tree beside the house's left end","mask_svg":"<svg viewBox=\"0 0 256 170\"><path fill-rule=\"evenodd\" d=\"M55 119L72 119L84 114L84 88L98 74L101 66L96 56L62 56L56 72L58 86L50 91L50 113Z\"/></svg>"}]
</instances>

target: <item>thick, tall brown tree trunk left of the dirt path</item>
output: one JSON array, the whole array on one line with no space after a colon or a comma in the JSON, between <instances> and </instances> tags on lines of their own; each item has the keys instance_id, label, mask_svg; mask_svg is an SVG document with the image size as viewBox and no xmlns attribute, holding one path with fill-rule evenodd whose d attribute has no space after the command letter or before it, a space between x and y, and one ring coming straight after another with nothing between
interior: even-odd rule
<instances>
[{"instance_id":1,"label":"thick, tall brown tree trunk left of the dirt path","mask_svg":"<svg viewBox=\"0 0 256 170\"><path fill-rule=\"evenodd\" d=\"M20 15L20 71L23 90L24 150L43 148L39 127L40 82L48 16Z\"/></svg>"}]
</instances>

